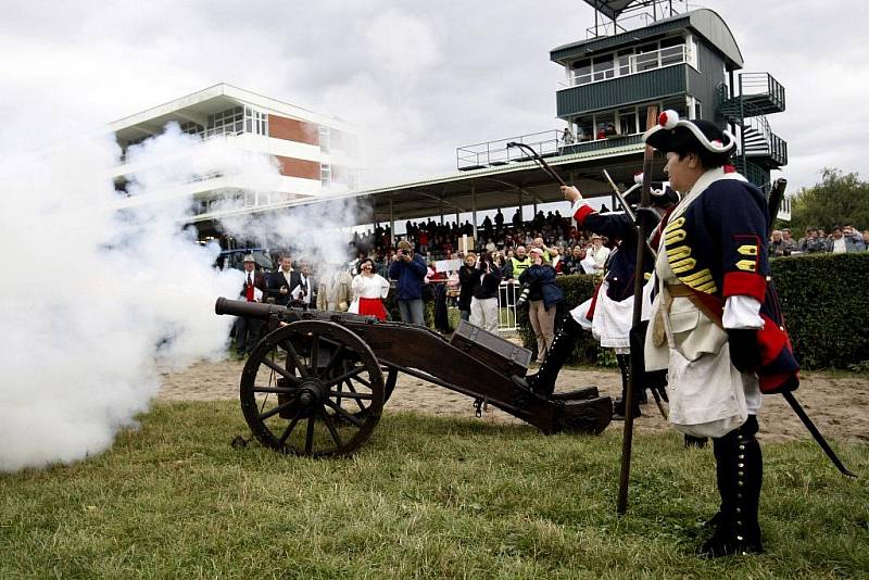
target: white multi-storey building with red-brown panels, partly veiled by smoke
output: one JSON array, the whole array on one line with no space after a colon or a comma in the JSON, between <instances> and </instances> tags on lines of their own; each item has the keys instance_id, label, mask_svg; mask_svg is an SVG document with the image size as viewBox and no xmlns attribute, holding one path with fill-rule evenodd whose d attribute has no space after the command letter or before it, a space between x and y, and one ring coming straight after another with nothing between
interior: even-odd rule
<instances>
[{"instance_id":1,"label":"white multi-storey building with red-brown panels, partly veiled by smoke","mask_svg":"<svg viewBox=\"0 0 869 580\"><path fill-rule=\"evenodd\" d=\"M357 137L349 124L231 85L215 85L130 115L112 123L110 130L126 155L129 147L160 135L171 123L199 136L203 143L222 139L240 156L269 155L279 167L280 176L267 191L243 178L216 173L150 200L134 197L122 203L190 199L190 222L197 224L201 237L215 234L213 220L227 213L227 200L235 202L231 213L263 212L358 187ZM126 176L142 168L138 165L122 157L113 175L118 189L124 189Z\"/></svg>"}]
</instances>

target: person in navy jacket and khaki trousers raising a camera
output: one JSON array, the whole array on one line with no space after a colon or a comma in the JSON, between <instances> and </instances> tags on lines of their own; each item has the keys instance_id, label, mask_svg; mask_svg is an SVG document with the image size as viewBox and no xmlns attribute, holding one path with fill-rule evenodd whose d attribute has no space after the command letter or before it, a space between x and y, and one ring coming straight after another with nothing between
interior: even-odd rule
<instances>
[{"instance_id":1,"label":"person in navy jacket and khaki trousers raising a camera","mask_svg":"<svg viewBox=\"0 0 869 580\"><path fill-rule=\"evenodd\" d=\"M564 292L555 283L555 268L544 261L541 248L531 249L531 266L521 273L522 293L516 307L528 303L528 319L537 339L537 362L543 358L555 339L555 313Z\"/></svg>"}]
</instances>

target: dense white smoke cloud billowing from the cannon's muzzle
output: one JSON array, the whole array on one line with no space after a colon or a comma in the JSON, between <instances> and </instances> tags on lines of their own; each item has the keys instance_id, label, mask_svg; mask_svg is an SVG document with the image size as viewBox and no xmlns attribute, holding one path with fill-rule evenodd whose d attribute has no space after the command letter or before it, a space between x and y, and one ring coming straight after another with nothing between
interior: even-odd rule
<instances>
[{"instance_id":1,"label":"dense white smoke cloud billowing from the cannon's muzzle","mask_svg":"<svg viewBox=\"0 0 869 580\"><path fill-rule=\"evenodd\" d=\"M223 356L232 319L214 301L238 295L242 275L213 269L219 249L180 228L189 198L135 202L214 172L279 177L231 151L169 127L129 152L139 169L121 212L109 137L0 155L0 471L105 450L147 411L159 368Z\"/></svg>"}]
</instances>

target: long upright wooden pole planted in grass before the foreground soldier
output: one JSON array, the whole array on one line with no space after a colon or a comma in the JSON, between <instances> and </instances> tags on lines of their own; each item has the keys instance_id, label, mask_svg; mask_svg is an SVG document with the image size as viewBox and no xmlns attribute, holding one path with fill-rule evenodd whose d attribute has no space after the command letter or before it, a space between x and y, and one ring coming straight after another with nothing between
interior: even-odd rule
<instances>
[{"instance_id":1,"label":"long upright wooden pole planted in grass before the foreground soldier","mask_svg":"<svg viewBox=\"0 0 869 580\"><path fill-rule=\"evenodd\" d=\"M645 112L646 129L657 123L658 111L656 106L650 106ZM643 188L640 190L640 207L652 205L652 159L655 150L651 146L645 146L643 151ZM637 224L637 268L634 272L643 272L645 259L645 244L648 243L647 234L642 224ZM643 276L633 277L633 323L632 328L640 325L643 313ZM625 392L625 434L621 438L621 472L618 481L618 499L616 502L616 513L625 514L628 509L628 484L631 475L631 444L633 443L633 390L637 384L637 377L642 369L639 368L639 357L631 356L631 370L628 376L628 389Z\"/></svg>"}]
</instances>

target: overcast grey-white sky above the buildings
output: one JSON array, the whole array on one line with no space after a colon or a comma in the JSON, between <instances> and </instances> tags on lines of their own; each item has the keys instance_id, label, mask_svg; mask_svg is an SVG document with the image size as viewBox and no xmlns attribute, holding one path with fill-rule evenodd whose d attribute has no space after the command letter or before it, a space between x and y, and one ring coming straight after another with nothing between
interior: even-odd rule
<instances>
[{"instance_id":1,"label":"overcast grey-white sky above the buildings","mask_svg":"<svg viewBox=\"0 0 869 580\"><path fill-rule=\"evenodd\" d=\"M707 0L788 110L791 191L824 166L869 176L869 1ZM834 7L834 8L831 8ZM0 146L88 130L216 83L356 123L371 179L455 169L455 148L563 127L549 51L583 39L580 0L4 0ZM370 185L370 179L369 184Z\"/></svg>"}]
</instances>

